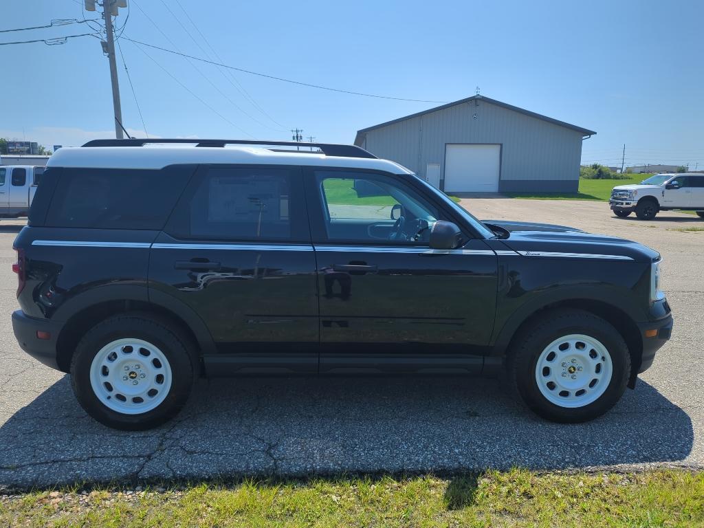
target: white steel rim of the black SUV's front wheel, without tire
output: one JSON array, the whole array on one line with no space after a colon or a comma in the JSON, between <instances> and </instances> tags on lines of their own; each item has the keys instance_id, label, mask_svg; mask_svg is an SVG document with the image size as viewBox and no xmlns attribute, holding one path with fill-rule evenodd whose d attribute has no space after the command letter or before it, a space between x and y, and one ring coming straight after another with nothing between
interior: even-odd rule
<instances>
[{"instance_id":1,"label":"white steel rim of the black SUV's front wheel, without tire","mask_svg":"<svg viewBox=\"0 0 704 528\"><path fill-rule=\"evenodd\" d=\"M549 402L579 408L604 394L612 373L609 351L598 339L570 334L543 349L536 363L535 380Z\"/></svg>"}]
</instances>

